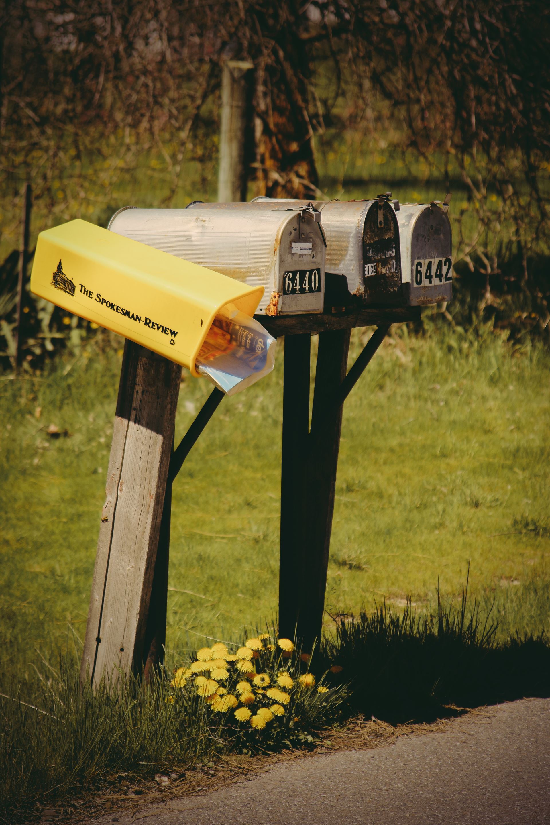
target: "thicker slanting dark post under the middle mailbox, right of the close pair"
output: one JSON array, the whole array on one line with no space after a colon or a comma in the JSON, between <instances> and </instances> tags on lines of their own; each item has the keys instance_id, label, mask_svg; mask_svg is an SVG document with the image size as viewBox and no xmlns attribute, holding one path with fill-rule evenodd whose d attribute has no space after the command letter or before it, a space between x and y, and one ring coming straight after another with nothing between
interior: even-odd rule
<instances>
[{"instance_id":1,"label":"thicker slanting dark post under the middle mailbox, right of the close pair","mask_svg":"<svg viewBox=\"0 0 550 825\"><path fill-rule=\"evenodd\" d=\"M310 650L321 636L342 408L336 415L327 416L327 411L331 409L331 400L346 377L349 348L349 329L319 333L312 422L307 445L305 505L300 509L304 540L299 549L302 573L297 590L296 634L304 650Z\"/></svg>"}]
</instances>

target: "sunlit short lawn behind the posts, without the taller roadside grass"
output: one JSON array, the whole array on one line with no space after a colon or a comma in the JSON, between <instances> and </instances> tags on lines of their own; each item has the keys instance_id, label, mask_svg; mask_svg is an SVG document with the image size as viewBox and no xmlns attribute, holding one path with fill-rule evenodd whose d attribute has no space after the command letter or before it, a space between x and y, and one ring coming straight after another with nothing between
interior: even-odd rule
<instances>
[{"instance_id":1,"label":"sunlit short lawn behind the posts, without the taller roadside grass","mask_svg":"<svg viewBox=\"0 0 550 825\"><path fill-rule=\"evenodd\" d=\"M2 680L31 679L36 648L79 655L120 369L118 339L101 340L39 377L0 380ZM488 332L402 328L388 340L346 403L328 633L331 617L373 599L433 607L438 580L452 598L468 563L503 638L550 630L549 365L543 348L514 351ZM282 351L272 375L223 401L174 484L167 647L178 655L201 634L237 639L276 615L281 377ZM176 436L208 393L186 377ZM49 437L51 423L68 435Z\"/></svg>"}]
</instances>

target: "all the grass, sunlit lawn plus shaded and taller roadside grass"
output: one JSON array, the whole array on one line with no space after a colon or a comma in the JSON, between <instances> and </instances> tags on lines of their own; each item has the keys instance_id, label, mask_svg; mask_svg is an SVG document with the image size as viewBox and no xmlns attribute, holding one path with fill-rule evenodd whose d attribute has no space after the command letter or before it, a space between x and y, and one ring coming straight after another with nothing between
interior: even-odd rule
<instances>
[{"instance_id":1,"label":"all the grass, sunlit lawn plus shaded and taller roadside grass","mask_svg":"<svg viewBox=\"0 0 550 825\"><path fill-rule=\"evenodd\" d=\"M428 326L398 328L346 403L314 665L344 666L348 713L393 722L550 690L550 355ZM350 362L368 334L354 332ZM176 479L170 667L276 614L282 347ZM130 680L116 701L78 689L120 356L100 331L76 360L0 377L0 691L51 714L0 700L3 799L25 809L97 793L123 768L138 781L204 761L219 738L192 703L174 715L164 683ZM186 375L177 436L207 394Z\"/></svg>"}]
</instances>

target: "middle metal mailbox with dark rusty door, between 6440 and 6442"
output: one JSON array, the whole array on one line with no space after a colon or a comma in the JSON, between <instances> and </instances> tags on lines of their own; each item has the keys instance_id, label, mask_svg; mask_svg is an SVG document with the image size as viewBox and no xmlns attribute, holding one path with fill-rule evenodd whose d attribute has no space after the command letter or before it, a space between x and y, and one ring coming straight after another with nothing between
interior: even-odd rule
<instances>
[{"instance_id":1,"label":"middle metal mailbox with dark rusty door, between 6440 and 6442","mask_svg":"<svg viewBox=\"0 0 550 825\"><path fill-rule=\"evenodd\" d=\"M325 312L378 304L401 306L399 227L391 192L373 200L315 200L327 236ZM284 209L302 200L256 198L264 208Z\"/></svg>"}]
</instances>

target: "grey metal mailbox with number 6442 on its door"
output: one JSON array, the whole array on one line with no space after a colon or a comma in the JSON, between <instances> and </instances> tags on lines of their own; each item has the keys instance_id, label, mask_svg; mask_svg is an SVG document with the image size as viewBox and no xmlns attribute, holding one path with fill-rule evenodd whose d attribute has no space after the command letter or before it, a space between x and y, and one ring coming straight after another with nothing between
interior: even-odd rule
<instances>
[{"instance_id":1,"label":"grey metal mailbox with number 6442 on its door","mask_svg":"<svg viewBox=\"0 0 550 825\"><path fill-rule=\"evenodd\" d=\"M430 204L402 204L397 213L401 234L403 290L410 306L437 304L453 297L453 238L449 197Z\"/></svg>"}]
</instances>

